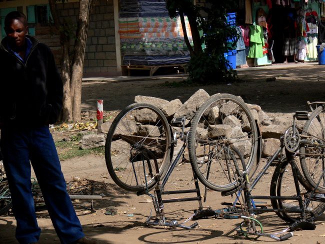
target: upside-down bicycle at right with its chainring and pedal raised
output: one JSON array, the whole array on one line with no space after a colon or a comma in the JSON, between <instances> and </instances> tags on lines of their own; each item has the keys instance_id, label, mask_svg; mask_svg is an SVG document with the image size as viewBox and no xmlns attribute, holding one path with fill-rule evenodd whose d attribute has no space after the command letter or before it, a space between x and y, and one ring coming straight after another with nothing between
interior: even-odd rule
<instances>
[{"instance_id":1,"label":"upside-down bicycle at right with its chainring and pedal raised","mask_svg":"<svg viewBox=\"0 0 325 244\"><path fill-rule=\"evenodd\" d=\"M229 140L225 140L222 136L218 138L200 137L196 134L196 128L204 115L204 111L212 103L212 99L206 101L197 111L192 121L192 128L189 133L189 154L193 165L193 169L198 179L206 186L213 190L219 190L219 186L215 184L216 177L210 176L210 173L214 173L212 170L206 170L213 165L213 155L211 150L205 153L205 160L201 160L201 154L199 154L199 148L202 144L206 147L216 148L218 143L224 146L225 150L231 153L230 146L235 148L234 143ZM238 190L237 199L241 196L242 199L242 211L232 212L232 218L243 218L244 221L240 223L236 229L239 234L245 236L267 236L276 240L284 240L292 236L292 232L277 237L276 234L263 233L261 223L254 217L257 212L269 212L274 211L279 217L288 222L293 222L287 230L294 230L298 227L305 229L313 229L315 226L310 224L317 216L319 216L325 210L325 198L324 198L324 148L325 148L325 120L324 120L324 102L308 102L311 114L307 111L296 111L293 116L293 125L289 127L283 136L281 136L281 146L269 158L257 174L257 176L250 182L252 176L249 175L249 171L246 167L246 162L243 159L244 155L242 150L237 150L238 160L232 160L233 167L232 177L236 179L235 189L223 187L222 195L228 195L235 193ZM313 109L312 105L316 108ZM295 119L307 120L302 129L298 129L295 126ZM209 125L210 126L210 125ZM300 131L299 131L300 130ZM301 133L300 133L301 132ZM260 140L259 140L260 143ZM259 148L259 146L258 146ZM282 150L285 150L285 156L282 154ZM233 148L232 148L233 150ZM270 195L251 195L256 183L265 173L267 168L278 159L277 166L272 175ZM299 158L301 171L296 166L295 160ZM259 161L259 158L257 158ZM242 168L239 168L241 164ZM288 175L290 172L288 168L291 167L292 175ZM321 170L317 170L318 168ZM202 170L203 168L203 170ZM321 174L317 173L321 172ZM225 174L225 173L224 173ZM229 174L228 174L229 175ZM230 177L230 175L229 175ZM283 179L293 179L295 185L294 192L288 191L282 187ZM240 193L240 194L239 194ZM240 196L239 196L240 195ZM270 199L272 209L257 208L253 204L253 199ZM215 211L216 213L216 211ZM198 213L198 215L204 215ZM212 211L213 215L213 211ZM244 229L243 226L247 227ZM256 229L256 225L260 227L260 230ZM282 232L281 232L282 233ZM280 234L280 233L277 233Z\"/></svg>"}]
</instances>

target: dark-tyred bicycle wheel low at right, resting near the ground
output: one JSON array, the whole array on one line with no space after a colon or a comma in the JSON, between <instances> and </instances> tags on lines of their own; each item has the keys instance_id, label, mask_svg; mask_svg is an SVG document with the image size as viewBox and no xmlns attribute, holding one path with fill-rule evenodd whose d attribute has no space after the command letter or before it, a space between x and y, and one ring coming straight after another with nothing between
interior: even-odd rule
<instances>
[{"instance_id":1,"label":"dark-tyred bicycle wheel low at right, resting near the ground","mask_svg":"<svg viewBox=\"0 0 325 244\"><path fill-rule=\"evenodd\" d=\"M298 158L296 158L298 159ZM303 175L297 171L297 178L299 182L300 194L302 202L305 203L310 198L311 188L307 186ZM271 179L270 185L271 196L296 196L296 189L290 163L286 159L282 163L277 164ZM282 208L287 210L298 210L298 200L279 200L271 199L273 208ZM308 206L305 207L306 220L313 221L325 210L325 203L311 200ZM301 215L298 212L275 212L280 218L287 222L294 222L300 220Z\"/></svg>"}]
</instances>

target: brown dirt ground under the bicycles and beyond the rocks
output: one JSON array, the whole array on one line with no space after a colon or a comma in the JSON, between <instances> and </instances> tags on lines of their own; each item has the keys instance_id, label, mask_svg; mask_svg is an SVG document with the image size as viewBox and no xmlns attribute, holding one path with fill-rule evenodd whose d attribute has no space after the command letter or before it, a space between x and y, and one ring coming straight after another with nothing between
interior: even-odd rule
<instances>
[{"instance_id":1,"label":"brown dirt ground under the bicycles and beyond the rocks","mask_svg":"<svg viewBox=\"0 0 325 244\"><path fill-rule=\"evenodd\" d=\"M116 114L134 100L135 95L155 96L167 100L179 98L182 102L188 99L196 90L203 88L210 95L214 93L231 93L240 95L245 102L258 104L270 116L291 118L295 110L308 110L306 101L325 100L324 67L308 65L297 68L241 70L239 78L243 81L231 84L215 84L206 86L176 86L184 77L163 77L144 81L93 81L82 85L82 111L95 112L95 100L104 100L105 114ZM275 77L275 81L266 78ZM54 133L54 139L69 136L66 133ZM262 159L263 163L265 159ZM164 228L163 226L146 226L145 219L153 209L148 195L137 196L120 189L111 180L103 156L87 155L61 162L66 181L93 180L96 194L103 199L94 200L94 210L75 207L84 232L99 243L267 243L274 241L260 237L257 240L247 240L235 235L234 228L239 219L207 219L197 220L198 226L192 230L181 228ZM270 178L274 167L256 185L253 194L269 192ZM194 187L193 176L189 163L178 165L172 172L165 189L190 189ZM204 187L200 184L201 194ZM185 196L185 195L184 195ZM189 197L192 195L186 195ZM164 196L167 197L168 196ZM231 202L231 196L222 197L219 192L208 191L203 207L218 209L224 207L221 202ZM89 201L79 201L76 204L89 206ZM107 207L114 207L116 215L106 215ZM178 222L190 217L198 208L197 201L167 203L165 213L168 219ZM39 243L59 243L46 210L38 211L38 223L42 228ZM268 233L280 232L287 227L274 213L262 213L258 216ZM186 224L192 224L189 220ZM284 243L325 243L325 214L316 221L315 230L295 231L294 236ZM17 243L14 238L15 220L12 215L0 216L0 243Z\"/></svg>"}]
</instances>

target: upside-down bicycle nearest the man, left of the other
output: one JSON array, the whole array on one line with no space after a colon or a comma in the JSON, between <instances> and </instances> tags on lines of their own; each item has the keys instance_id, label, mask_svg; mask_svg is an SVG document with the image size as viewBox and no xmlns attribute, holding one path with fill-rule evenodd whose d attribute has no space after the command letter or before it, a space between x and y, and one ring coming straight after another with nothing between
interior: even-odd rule
<instances>
[{"instance_id":1,"label":"upside-down bicycle nearest the man, left of the other","mask_svg":"<svg viewBox=\"0 0 325 244\"><path fill-rule=\"evenodd\" d=\"M243 136L238 137L229 133L224 137L231 140L234 144L243 145L245 150L245 163L248 170L253 169L255 154L257 149L257 129L255 121L249 111L244 105L243 101L231 94L216 94L211 96L210 110L205 111L208 116L206 122L221 120L223 127L226 130L233 121L237 122L238 126L244 128ZM215 108L215 104L218 108ZM214 107L214 108L213 108ZM212 109L213 108L213 109ZM221 116L217 116L218 109L221 109ZM231 111L230 111L231 110ZM225 117L231 113L232 120L224 120ZM223 117L224 116L224 117ZM160 224L165 226L178 226L183 228L192 228L196 226L185 226L178 224L177 221L165 221L163 214L163 203L173 201L187 201L198 200L199 207L202 209L201 196L198 187L196 174L193 172L195 189L194 190L176 190L164 191L164 186L169 175L183 154L190 132L184 132L185 123L188 122L184 117L173 118L168 123L167 118L156 106L148 103L133 103L125 107L117 114L112 121L109 131L107 133L105 142L105 160L108 172L114 182L121 188L137 192L137 194L148 194L152 197L154 209L156 212L156 219L149 221L151 213L147 219L148 224ZM172 132L171 125L178 123L180 129L178 132ZM190 131L193 131L190 127ZM202 135L204 129L201 129L198 134ZM205 133L206 134L206 133ZM175 153L174 158L173 149L175 145L179 145L179 150ZM202 149L202 148L201 148ZM225 147L218 148L218 161L220 168L227 167L229 161L236 160L239 154L234 148L233 153L228 156L224 151ZM203 149L204 151L204 149ZM204 160L204 158L202 159ZM231 169L227 168L230 175ZM224 177L227 180L225 185L217 184L219 189L235 189L236 181L234 179ZM160 182L161 181L161 182ZM149 193L154 189L154 195ZM184 199L168 199L163 200L161 194L178 194L196 192L197 196ZM204 196L206 195L206 191ZM190 218L188 218L190 219ZM188 221L185 220L186 221Z\"/></svg>"}]
</instances>

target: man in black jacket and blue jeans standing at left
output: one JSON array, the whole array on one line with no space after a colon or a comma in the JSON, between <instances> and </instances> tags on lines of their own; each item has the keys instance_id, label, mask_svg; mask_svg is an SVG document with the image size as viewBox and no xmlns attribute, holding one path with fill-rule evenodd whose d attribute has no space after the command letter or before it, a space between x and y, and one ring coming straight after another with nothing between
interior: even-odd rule
<instances>
[{"instance_id":1,"label":"man in black jacket and blue jeans standing at left","mask_svg":"<svg viewBox=\"0 0 325 244\"><path fill-rule=\"evenodd\" d=\"M19 243L36 243L40 234L31 193L31 163L61 243L96 243L82 232L48 128L62 107L62 80L49 48L27 35L27 29L23 13L8 13L4 19L7 36L0 44L0 147L17 222L16 238Z\"/></svg>"}]
</instances>

